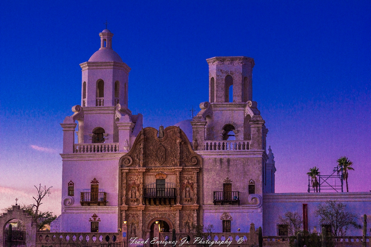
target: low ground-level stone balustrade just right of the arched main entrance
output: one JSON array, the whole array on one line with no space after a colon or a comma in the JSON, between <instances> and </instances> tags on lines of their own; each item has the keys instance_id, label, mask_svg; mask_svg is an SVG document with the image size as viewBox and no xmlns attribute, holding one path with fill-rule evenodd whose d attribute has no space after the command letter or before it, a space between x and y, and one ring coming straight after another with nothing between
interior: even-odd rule
<instances>
[{"instance_id":1,"label":"low ground-level stone balustrade just right of the arched main entrance","mask_svg":"<svg viewBox=\"0 0 371 247\"><path fill-rule=\"evenodd\" d=\"M204 233L203 234L203 237L198 237L196 236L196 234L194 233L176 233L175 234L176 238L177 238L177 246L179 244L181 244L183 241L184 242L184 246L188 246L188 245L200 245L203 242L203 241L209 241L207 244L207 246L210 245L210 242L212 241L215 241L214 242L214 246L219 246L219 243L221 243L221 241L224 241L223 243L226 243L227 241L232 241L230 243L230 246L234 246L234 245L247 245L247 246L250 246L254 243L257 243L258 241L258 234L257 233L210 233L209 235L207 233ZM159 240L160 241L171 241L171 237L172 237L172 233L160 233L159 235ZM187 237L188 237L188 244L187 244ZM216 243L218 242L219 243ZM220 244L220 246L227 246L228 243L226 244Z\"/></svg>"}]
</instances>

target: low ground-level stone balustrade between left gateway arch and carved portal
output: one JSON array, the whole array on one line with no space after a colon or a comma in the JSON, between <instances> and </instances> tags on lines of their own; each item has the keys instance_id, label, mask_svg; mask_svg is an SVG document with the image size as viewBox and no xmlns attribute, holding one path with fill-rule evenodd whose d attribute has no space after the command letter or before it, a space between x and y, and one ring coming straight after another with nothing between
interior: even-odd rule
<instances>
[{"instance_id":1,"label":"low ground-level stone balustrade between left gateway arch and carved portal","mask_svg":"<svg viewBox=\"0 0 371 247\"><path fill-rule=\"evenodd\" d=\"M68 246L82 244L83 246L95 246L108 243L122 242L121 233L36 233L36 247L41 246Z\"/></svg>"}]
</instances>

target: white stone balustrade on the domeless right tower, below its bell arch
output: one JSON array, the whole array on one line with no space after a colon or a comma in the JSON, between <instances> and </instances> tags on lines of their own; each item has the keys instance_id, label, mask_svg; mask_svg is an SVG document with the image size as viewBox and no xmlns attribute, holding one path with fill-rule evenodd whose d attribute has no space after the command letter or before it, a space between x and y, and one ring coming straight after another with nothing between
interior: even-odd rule
<instances>
[{"instance_id":1,"label":"white stone balustrade on the domeless right tower, below its bell arch","mask_svg":"<svg viewBox=\"0 0 371 247\"><path fill-rule=\"evenodd\" d=\"M247 141L204 141L207 151L239 151L251 149L251 140Z\"/></svg>"}]
</instances>

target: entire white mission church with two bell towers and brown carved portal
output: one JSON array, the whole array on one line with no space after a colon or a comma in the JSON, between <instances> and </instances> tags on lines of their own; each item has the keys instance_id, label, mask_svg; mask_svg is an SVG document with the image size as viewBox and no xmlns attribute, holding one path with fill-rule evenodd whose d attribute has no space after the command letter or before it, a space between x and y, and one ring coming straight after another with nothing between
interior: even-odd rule
<instances>
[{"instance_id":1,"label":"entire white mission church with two bell towers and brown carved portal","mask_svg":"<svg viewBox=\"0 0 371 247\"><path fill-rule=\"evenodd\" d=\"M206 59L209 101L197 115L143 128L143 115L128 106L131 68L112 49L114 34L105 29L99 36L99 50L80 64L81 105L61 123L62 214L55 231L145 240L157 229L187 235L213 224L216 233L262 227L264 236L277 236L285 234L278 218L288 210L303 215L304 229L320 229L313 212L328 200L347 203L360 217L371 214L369 192L275 193L268 129L253 101L254 59Z\"/></svg>"}]
</instances>

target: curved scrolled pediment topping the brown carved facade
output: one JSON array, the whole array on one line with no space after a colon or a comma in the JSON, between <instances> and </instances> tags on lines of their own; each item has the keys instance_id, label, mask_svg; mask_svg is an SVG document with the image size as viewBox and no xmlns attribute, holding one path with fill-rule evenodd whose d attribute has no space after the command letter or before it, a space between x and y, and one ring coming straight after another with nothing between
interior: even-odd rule
<instances>
[{"instance_id":1,"label":"curved scrolled pediment topping the brown carved facade","mask_svg":"<svg viewBox=\"0 0 371 247\"><path fill-rule=\"evenodd\" d=\"M120 159L121 167L185 167L201 166L202 158L193 151L191 144L178 126L164 129L164 137L158 138L158 130L142 129L130 152Z\"/></svg>"}]
</instances>

